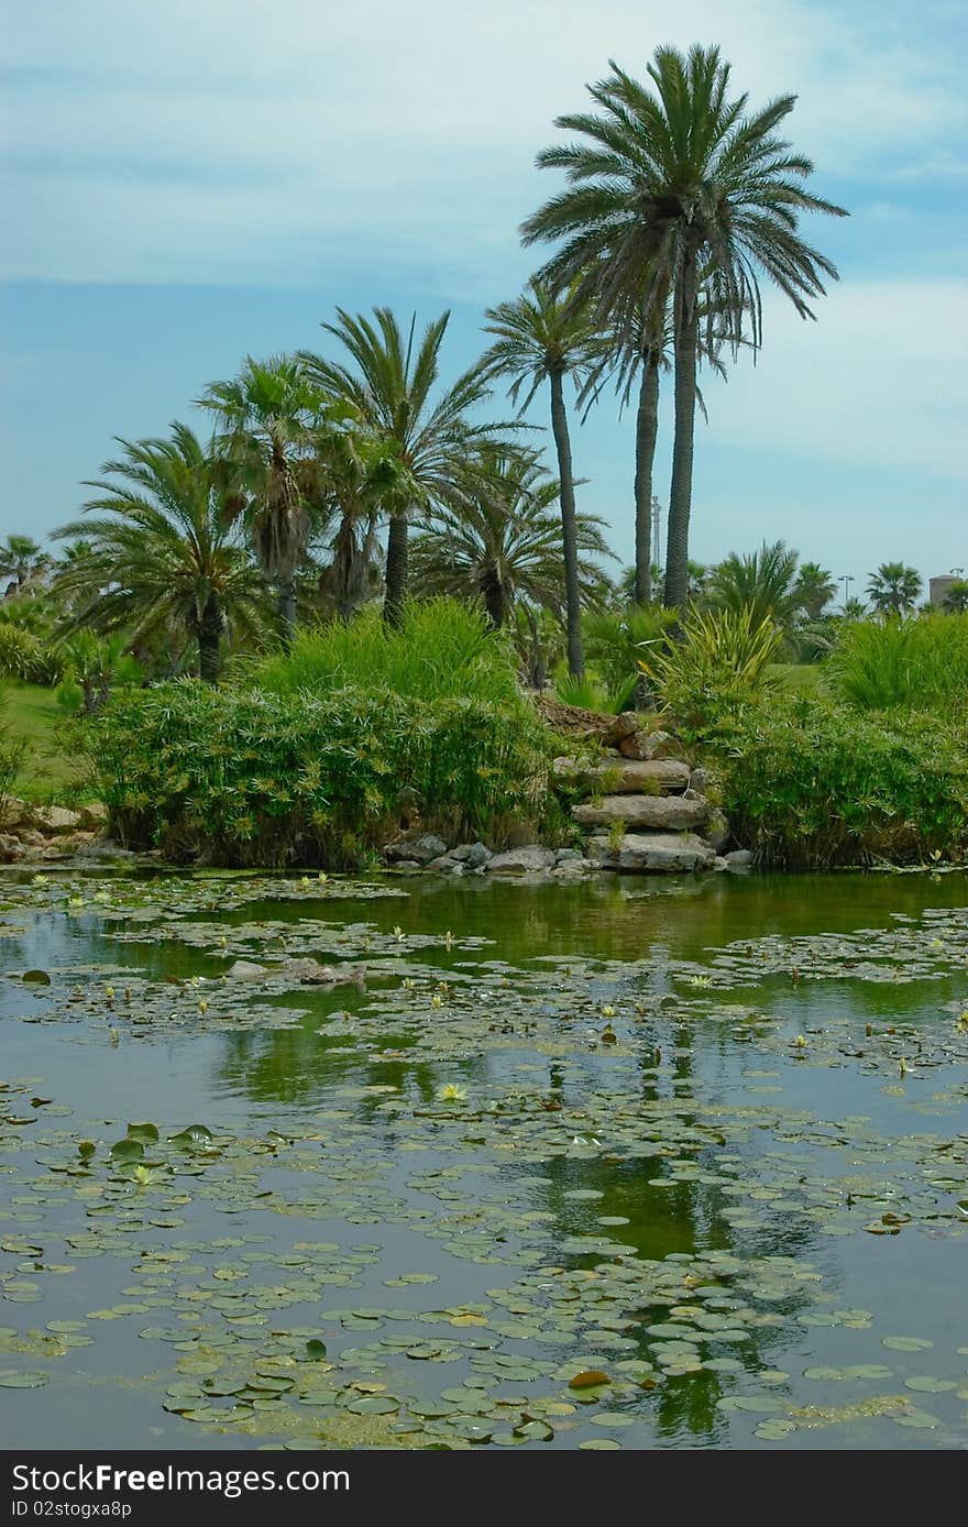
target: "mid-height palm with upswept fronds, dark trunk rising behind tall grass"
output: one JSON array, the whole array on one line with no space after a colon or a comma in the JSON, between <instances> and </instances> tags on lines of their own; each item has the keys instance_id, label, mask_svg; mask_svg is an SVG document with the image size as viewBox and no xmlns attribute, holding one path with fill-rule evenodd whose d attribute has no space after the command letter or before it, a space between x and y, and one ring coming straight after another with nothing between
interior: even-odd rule
<instances>
[{"instance_id":1,"label":"mid-height palm with upswept fronds, dark trunk rising behind tall grass","mask_svg":"<svg viewBox=\"0 0 968 1527\"><path fill-rule=\"evenodd\" d=\"M489 397L476 368L434 399L449 313L428 324L414 348L415 318L405 339L388 307L373 312L376 322L337 308L337 322L321 325L339 339L351 365L311 351L301 351L299 363L311 385L350 408L376 440L395 450L395 472L383 501L389 515L383 615L388 625L398 626L408 591L409 518L444 504L455 461L501 426L472 425L467 417Z\"/></svg>"}]
</instances>

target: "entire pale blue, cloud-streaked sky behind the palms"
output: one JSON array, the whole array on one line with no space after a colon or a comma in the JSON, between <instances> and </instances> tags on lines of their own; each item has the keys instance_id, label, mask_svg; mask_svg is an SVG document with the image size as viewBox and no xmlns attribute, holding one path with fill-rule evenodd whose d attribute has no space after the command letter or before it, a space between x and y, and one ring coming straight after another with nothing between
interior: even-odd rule
<instances>
[{"instance_id":1,"label":"entire pale blue, cloud-streaked sky behind the palms","mask_svg":"<svg viewBox=\"0 0 968 1527\"><path fill-rule=\"evenodd\" d=\"M244 354L322 344L339 304L452 310L444 363L533 258L521 218L553 118L609 56L718 41L789 119L841 281L803 324L768 299L756 368L705 388L693 554L783 536L864 582L968 565L966 27L960 0L44 0L0 43L0 536L84 499L111 437L192 418ZM669 389L667 389L669 391ZM499 409L501 403L495 403ZM540 421L540 409L534 412ZM632 420L574 457L632 551ZM663 418L657 490L669 481Z\"/></svg>"}]
</instances>

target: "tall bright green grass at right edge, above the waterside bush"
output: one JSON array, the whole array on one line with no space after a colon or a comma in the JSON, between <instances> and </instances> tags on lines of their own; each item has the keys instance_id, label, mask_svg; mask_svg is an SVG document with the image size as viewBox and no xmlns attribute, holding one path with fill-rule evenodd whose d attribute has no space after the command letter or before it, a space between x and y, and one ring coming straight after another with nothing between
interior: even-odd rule
<instances>
[{"instance_id":1,"label":"tall bright green grass at right edge, above the waterside bush","mask_svg":"<svg viewBox=\"0 0 968 1527\"><path fill-rule=\"evenodd\" d=\"M933 611L844 625L824 687L858 710L898 707L962 718L968 695L968 614Z\"/></svg>"}]
</instances>

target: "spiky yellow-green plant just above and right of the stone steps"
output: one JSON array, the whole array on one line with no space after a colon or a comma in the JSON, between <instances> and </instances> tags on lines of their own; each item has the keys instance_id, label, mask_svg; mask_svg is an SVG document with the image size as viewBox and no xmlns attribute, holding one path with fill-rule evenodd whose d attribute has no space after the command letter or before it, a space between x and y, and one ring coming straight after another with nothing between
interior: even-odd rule
<instances>
[{"instance_id":1,"label":"spiky yellow-green plant just above and right of the stone steps","mask_svg":"<svg viewBox=\"0 0 968 1527\"><path fill-rule=\"evenodd\" d=\"M687 742L704 738L779 687L771 664L782 637L768 617L739 611L692 614L679 640L644 658L641 670Z\"/></svg>"}]
</instances>

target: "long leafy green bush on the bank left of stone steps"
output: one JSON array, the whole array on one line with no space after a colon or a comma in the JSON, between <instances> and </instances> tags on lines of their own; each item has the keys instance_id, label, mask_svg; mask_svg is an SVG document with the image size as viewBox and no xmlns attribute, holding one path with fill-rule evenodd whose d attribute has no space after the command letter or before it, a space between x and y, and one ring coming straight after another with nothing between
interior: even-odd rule
<instances>
[{"instance_id":1,"label":"long leafy green bush on the bank left of stone steps","mask_svg":"<svg viewBox=\"0 0 968 1527\"><path fill-rule=\"evenodd\" d=\"M78 725L113 829L177 860L353 867L392 835L403 791L450 841L501 844L545 809L547 734L525 704L179 680Z\"/></svg>"}]
</instances>

